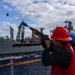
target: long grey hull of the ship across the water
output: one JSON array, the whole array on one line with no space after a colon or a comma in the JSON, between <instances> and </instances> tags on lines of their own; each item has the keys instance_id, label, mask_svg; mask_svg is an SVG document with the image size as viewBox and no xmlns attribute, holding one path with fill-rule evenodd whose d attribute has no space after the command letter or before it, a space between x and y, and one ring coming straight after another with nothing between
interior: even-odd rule
<instances>
[{"instance_id":1,"label":"long grey hull of the ship across the water","mask_svg":"<svg viewBox=\"0 0 75 75\"><path fill-rule=\"evenodd\" d=\"M20 43L12 42L10 39L0 39L0 55L26 54L40 52L43 47L40 43Z\"/></svg>"}]
</instances>

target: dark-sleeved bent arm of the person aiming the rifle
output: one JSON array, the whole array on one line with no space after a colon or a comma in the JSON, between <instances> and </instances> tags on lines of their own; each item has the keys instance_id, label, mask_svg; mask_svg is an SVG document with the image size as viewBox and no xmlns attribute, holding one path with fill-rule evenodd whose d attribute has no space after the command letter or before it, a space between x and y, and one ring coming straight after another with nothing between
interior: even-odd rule
<instances>
[{"instance_id":1,"label":"dark-sleeved bent arm of the person aiming the rifle","mask_svg":"<svg viewBox=\"0 0 75 75\"><path fill-rule=\"evenodd\" d=\"M53 50L53 53L49 54L49 52L52 50ZM71 55L67 50L65 49L61 50L58 46L51 43L50 48L48 48L47 46L45 50L43 51L42 64L44 66L60 65L62 61L63 61L63 64L65 64L66 61L68 63L70 62L70 58L71 58Z\"/></svg>"}]
</instances>

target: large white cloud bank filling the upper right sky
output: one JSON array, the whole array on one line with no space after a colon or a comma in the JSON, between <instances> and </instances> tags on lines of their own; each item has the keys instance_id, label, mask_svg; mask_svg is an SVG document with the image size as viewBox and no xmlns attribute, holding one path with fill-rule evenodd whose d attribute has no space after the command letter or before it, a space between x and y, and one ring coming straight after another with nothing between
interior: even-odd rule
<instances>
[{"instance_id":1,"label":"large white cloud bank filling the upper right sky","mask_svg":"<svg viewBox=\"0 0 75 75\"><path fill-rule=\"evenodd\" d=\"M64 26L66 19L73 21L74 24L75 0L3 0L3 2L10 4L14 11L21 15L20 17L34 20L37 27L44 27L46 33L58 25Z\"/></svg>"}]
</instances>

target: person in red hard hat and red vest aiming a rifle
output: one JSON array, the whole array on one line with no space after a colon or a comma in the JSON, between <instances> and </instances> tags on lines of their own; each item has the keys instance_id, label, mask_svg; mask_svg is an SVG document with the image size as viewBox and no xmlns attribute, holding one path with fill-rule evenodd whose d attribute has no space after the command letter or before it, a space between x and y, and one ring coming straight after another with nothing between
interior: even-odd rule
<instances>
[{"instance_id":1,"label":"person in red hard hat and red vest aiming a rifle","mask_svg":"<svg viewBox=\"0 0 75 75\"><path fill-rule=\"evenodd\" d=\"M75 55L68 30L61 26L56 27L50 38L54 42L45 41L42 64L52 66L50 75L75 75Z\"/></svg>"}]
</instances>

